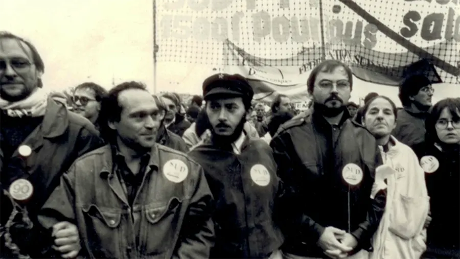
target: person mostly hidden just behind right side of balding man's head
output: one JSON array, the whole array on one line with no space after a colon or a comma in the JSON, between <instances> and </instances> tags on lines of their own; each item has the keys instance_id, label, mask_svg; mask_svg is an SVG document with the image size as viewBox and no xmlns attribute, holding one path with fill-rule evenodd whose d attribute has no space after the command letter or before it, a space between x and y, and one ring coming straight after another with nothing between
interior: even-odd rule
<instances>
[{"instance_id":1,"label":"person mostly hidden just behind right side of balding man's head","mask_svg":"<svg viewBox=\"0 0 460 259\"><path fill-rule=\"evenodd\" d=\"M153 99L155 100L155 104L160 110L160 112L167 112L168 108L166 108L166 104L156 95L153 95ZM166 146L168 148L175 149L180 152L188 152L189 148L187 144L181 137L172 133L168 130L165 126L165 119L160 122L158 126L158 133L156 134L156 143Z\"/></svg>"}]
</instances>

